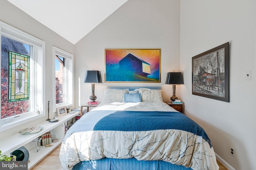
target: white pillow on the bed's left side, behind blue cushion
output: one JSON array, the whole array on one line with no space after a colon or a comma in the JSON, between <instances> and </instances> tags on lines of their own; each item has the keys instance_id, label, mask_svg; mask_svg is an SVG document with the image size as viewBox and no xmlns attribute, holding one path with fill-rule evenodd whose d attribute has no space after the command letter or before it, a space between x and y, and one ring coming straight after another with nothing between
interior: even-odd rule
<instances>
[{"instance_id":1,"label":"white pillow on the bed's left side, behind blue cushion","mask_svg":"<svg viewBox=\"0 0 256 170\"><path fill-rule=\"evenodd\" d=\"M104 102L124 102L124 94L129 93L128 89L105 89L104 91Z\"/></svg>"}]
</instances>

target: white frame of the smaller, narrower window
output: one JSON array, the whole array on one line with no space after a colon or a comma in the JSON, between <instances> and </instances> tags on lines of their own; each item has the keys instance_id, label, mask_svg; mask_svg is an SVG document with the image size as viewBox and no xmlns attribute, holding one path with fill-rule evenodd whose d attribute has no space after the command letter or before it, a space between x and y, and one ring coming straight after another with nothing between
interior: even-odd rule
<instances>
[{"instance_id":1,"label":"white frame of the smaller, narrower window","mask_svg":"<svg viewBox=\"0 0 256 170\"><path fill-rule=\"evenodd\" d=\"M55 56L60 56L64 58L64 102L61 104L56 104L56 86L55 86ZM58 47L52 46L52 58L53 58L53 70L54 70L54 80L53 80L53 112L56 112L57 107L72 107L73 106L73 58L71 53L68 53Z\"/></svg>"}]
</instances>

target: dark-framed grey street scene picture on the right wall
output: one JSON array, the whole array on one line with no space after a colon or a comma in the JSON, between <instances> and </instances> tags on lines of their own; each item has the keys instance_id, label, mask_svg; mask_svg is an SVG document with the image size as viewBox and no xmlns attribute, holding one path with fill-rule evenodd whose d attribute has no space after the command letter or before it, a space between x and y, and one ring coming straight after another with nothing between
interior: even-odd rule
<instances>
[{"instance_id":1,"label":"dark-framed grey street scene picture on the right wall","mask_svg":"<svg viewBox=\"0 0 256 170\"><path fill-rule=\"evenodd\" d=\"M229 43L192 57L192 94L229 102Z\"/></svg>"}]
</instances>

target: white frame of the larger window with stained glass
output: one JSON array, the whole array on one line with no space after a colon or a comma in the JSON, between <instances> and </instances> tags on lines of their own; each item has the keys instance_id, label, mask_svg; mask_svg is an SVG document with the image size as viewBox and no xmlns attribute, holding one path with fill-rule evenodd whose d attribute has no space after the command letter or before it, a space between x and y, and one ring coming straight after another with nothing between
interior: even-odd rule
<instances>
[{"instance_id":1,"label":"white frame of the larger window with stained glass","mask_svg":"<svg viewBox=\"0 0 256 170\"><path fill-rule=\"evenodd\" d=\"M30 45L30 112L0 119L0 132L45 116L44 62L45 42L0 21L2 35ZM0 45L0 51L1 51ZM0 56L1 61L1 56ZM0 103L1 106L1 103ZM1 111L0 111L1 112Z\"/></svg>"}]
</instances>

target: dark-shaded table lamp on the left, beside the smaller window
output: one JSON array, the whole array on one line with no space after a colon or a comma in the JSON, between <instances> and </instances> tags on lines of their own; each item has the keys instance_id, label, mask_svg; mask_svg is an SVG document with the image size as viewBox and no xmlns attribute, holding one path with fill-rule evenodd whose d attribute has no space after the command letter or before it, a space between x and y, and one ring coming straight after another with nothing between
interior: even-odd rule
<instances>
[{"instance_id":1,"label":"dark-shaded table lamp on the left, beside the smaller window","mask_svg":"<svg viewBox=\"0 0 256 170\"><path fill-rule=\"evenodd\" d=\"M95 102L96 96L94 95L95 83L102 83L100 71L96 70L87 70L85 77L85 83L92 83L92 96L90 96L90 100Z\"/></svg>"}]
</instances>

